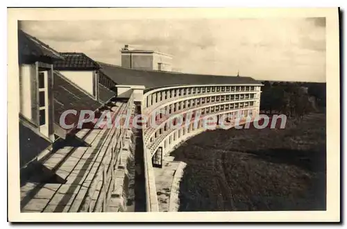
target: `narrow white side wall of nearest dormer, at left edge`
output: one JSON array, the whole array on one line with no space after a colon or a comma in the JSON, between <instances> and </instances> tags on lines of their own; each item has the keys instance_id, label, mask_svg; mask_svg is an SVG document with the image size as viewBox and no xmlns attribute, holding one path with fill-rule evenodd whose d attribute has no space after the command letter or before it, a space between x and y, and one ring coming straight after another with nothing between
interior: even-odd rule
<instances>
[{"instance_id":1,"label":"narrow white side wall of nearest dormer, at left edge","mask_svg":"<svg viewBox=\"0 0 347 229\"><path fill-rule=\"evenodd\" d=\"M35 74L35 65L20 65L19 66L19 99L20 99L20 112L27 119L32 119L31 114L31 74Z\"/></svg>"}]
</instances>

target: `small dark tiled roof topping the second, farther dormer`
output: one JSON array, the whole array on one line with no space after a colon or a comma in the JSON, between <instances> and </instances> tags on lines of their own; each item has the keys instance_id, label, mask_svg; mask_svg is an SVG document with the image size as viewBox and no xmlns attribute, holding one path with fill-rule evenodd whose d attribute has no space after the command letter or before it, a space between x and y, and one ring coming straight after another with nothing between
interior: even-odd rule
<instances>
[{"instance_id":1,"label":"small dark tiled roof topping the second, farther dormer","mask_svg":"<svg viewBox=\"0 0 347 229\"><path fill-rule=\"evenodd\" d=\"M99 69L100 66L85 53L60 53L64 60L54 62L56 70Z\"/></svg>"}]
</instances>

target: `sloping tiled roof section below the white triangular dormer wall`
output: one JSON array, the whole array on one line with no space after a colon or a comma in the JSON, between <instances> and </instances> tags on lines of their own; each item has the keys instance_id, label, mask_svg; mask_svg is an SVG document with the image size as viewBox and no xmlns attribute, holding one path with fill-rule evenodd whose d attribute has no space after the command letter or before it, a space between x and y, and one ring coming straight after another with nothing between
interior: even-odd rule
<instances>
[{"instance_id":1,"label":"sloping tiled roof section below the white triangular dormer wall","mask_svg":"<svg viewBox=\"0 0 347 229\"><path fill-rule=\"evenodd\" d=\"M80 87L71 83L59 71L54 71L53 98L54 119L59 126L60 116L66 110L76 110L78 112L76 116L69 115L66 119L67 124L76 124L81 110L92 110L94 112L102 105Z\"/></svg>"}]
</instances>

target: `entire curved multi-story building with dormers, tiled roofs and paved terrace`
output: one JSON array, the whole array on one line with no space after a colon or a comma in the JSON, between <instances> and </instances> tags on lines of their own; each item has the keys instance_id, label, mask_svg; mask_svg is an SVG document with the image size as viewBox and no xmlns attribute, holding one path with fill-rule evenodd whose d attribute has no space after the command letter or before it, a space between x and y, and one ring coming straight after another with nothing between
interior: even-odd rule
<instances>
[{"instance_id":1,"label":"entire curved multi-story building with dormers, tiled roofs and paved terrace","mask_svg":"<svg viewBox=\"0 0 347 229\"><path fill-rule=\"evenodd\" d=\"M45 50L44 47L48 46L40 43L40 49ZM21 55L22 52L19 53ZM56 125L49 128L48 132L42 128L42 131L37 131L37 135L44 135L49 139L49 134L54 133L60 141L47 142L44 145L47 148L43 150L46 153L37 150L38 153L34 153L33 158L40 164L40 171L43 167L45 173L53 174L49 179L55 180L58 185L46 183L46 177L39 179L39 185L33 185L30 178L35 176L25 176L22 188L22 210L25 211L126 210L124 199L128 193L129 171L126 171L126 163L129 161L129 153L135 154L140 171L143 171L141 176L144 180L143 192L146 194L143 203L145 209L158 211L153 167L162 167L162 157L178 143L206 130L204 119L199 117L214 116L217 117L219 126L229 124L232 127L230 119L235 119L235 115L239 115L245 122L250 121L246 117L253 119L259 114L261 83L250 77L158 71L155 67L158 61L154 61L152 51L147 53L123 49L122 66L96 62L83 53L58 53L51 50L50 55L52 58L47 67L51 71L51 81L54 82L52 92L48 92L52 94L51 103L42 107L52 110L54 117L50 120L56 120L52 121ZM42 58L46 60L44 56ZM40 69L40 65L42 64L35 62L35 68L32 69ZM35 73L34 79L36 75ZM25 75L20 77L25 78ZM25 89L37 82L33 78L21 81L26 82L26 85L21 84L21 93L33 93ZM37 113L41 106L35 105L35 109L32 109L30 104L29 107L24 105L21 113L30 113L28 119L35 117L39 123ZM58 126L57 121L62 113L75 107L77 110L95 110L96 117L107 110L112 112L112 117L126 113L132 118L135 114L142 114L142 117L132 123L139 123L139 128L116 128L112 125L110 130L94 129L93 126L76 129L76 116L69 118L73 128L67 130ZM32 110L36 116L32 115ZM224 114L231 116L225 118ZM38 125L37 128L40 130ZM83 141L72 144L74 141L71 136ZM58 142L58 146L53 147L55 142ZM24 157L25 151L28 150L24 145L21 157ZM74 157L71 158L71 155ZM46 187L56 187L61 192L47 194L42 191ZM78 187L78 191L74 187ZM41 195L44 201L41 200L42 196L37 196L40 192L43 193Z\"/></svg>"}]
</instances>

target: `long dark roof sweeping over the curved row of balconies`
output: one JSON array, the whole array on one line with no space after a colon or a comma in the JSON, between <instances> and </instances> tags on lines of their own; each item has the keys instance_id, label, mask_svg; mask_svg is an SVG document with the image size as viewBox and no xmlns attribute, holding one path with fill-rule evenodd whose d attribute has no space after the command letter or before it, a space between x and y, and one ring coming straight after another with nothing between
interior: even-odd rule
<instances>
[{"instance_id":1,"label":"long dark roof sweeping over the curved row of balconies","mask_svg":"<svg viewBox=\"0 0 347 229\"><path fill-rule=\"evenodd\" d=\"M120 85L144 85L148 88L174 85L208 85L208 84L260 84L251 77L212 76L184 74L169 71L145 71L128 69L99 62L101 71Z\"/></svg>"}]
</instances>

